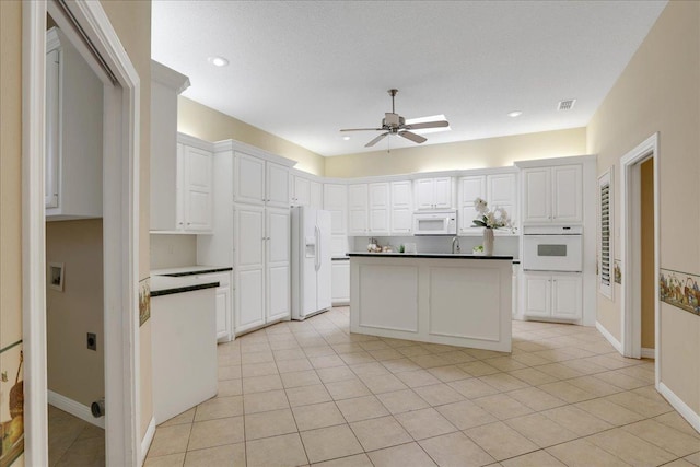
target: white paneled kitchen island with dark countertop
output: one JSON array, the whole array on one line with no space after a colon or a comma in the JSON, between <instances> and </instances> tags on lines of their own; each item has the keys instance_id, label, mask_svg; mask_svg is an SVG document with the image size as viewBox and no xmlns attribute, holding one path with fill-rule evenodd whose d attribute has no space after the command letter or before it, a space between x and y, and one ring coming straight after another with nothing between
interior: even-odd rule
<instances>
[{"instance_id":1,"label":"white paneled kitchen island with dark countertop","mask_svg":"<svg viewBox=\"0 0 700 467\"><path fill-rule=\"evenodd\" d=\"M351 332L511 351L512 256L348 256Z\"/></svg>"}]
</instances>

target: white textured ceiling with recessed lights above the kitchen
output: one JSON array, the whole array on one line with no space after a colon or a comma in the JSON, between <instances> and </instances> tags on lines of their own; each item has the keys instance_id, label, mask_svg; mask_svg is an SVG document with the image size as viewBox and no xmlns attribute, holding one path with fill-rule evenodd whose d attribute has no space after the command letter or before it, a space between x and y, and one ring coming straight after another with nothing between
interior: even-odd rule
<instances>
[{"instance_id":1,"label":"white textured ceiling with recessed lights above the kitchen","mask_svg":"<svg viewBox=\"0 0 700 467\"><path fill-rule=\"evenodd\" d=\"M190 78L186 97L337 155L366 151L375 132L338 130L380 126L390 87L404 117L450 120L424 144L585 126L665 4L155 0L152 56Z\"/></svg>"}]
</instances>

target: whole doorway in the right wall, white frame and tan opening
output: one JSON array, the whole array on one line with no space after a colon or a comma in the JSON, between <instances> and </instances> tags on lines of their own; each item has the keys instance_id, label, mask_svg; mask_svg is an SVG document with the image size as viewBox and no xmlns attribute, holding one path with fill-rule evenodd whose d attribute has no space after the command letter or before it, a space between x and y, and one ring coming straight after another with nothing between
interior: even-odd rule
<instances>
[{"instance_id":1,"label":"whole doorway in the right wall, white frame and tan opening","mask_svg":"<svg viewBox=\"0 0 700 467\"><path fill-rule=\"evenodd\" d=\"M655 359L660 382L658 133L621 160L622 353Z\"/></svg>"}]
</instances>

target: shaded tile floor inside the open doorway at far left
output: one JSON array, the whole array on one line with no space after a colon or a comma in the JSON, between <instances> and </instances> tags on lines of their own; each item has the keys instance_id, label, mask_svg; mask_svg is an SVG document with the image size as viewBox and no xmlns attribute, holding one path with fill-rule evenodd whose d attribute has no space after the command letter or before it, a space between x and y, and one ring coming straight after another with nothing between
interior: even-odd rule
<instances>
[{"instance_id":1,"label":"shaded tile floor inside the open doorway at far left","mask_svg":"<svg viewBox=\"0 0 700 467\"><path fill-rule=\"evenodd\" d=\"M105 465L105 431L48 406L48 465L100 467Z\"/></svg>"}]
</instances>

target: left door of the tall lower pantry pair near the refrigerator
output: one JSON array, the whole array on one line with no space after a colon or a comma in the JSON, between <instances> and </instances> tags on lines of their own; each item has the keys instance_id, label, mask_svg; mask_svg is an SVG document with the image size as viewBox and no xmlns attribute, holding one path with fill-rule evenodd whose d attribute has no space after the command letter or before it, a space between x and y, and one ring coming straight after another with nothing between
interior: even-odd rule
<instances>
[{"instance_id":1,"label":"left door of the tall lower pantry pair near the refrigerator","mask_svg":"<svg viewBox=\"0 0 700 467\"><path fill-rule=\"evenodd\" d=\"M265 210L237 206L234 210L235 332L265 324Z\"/></svg>"}]
</instances>

